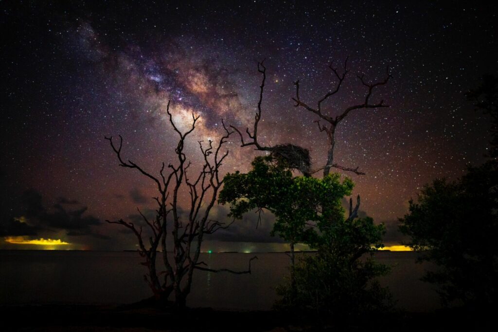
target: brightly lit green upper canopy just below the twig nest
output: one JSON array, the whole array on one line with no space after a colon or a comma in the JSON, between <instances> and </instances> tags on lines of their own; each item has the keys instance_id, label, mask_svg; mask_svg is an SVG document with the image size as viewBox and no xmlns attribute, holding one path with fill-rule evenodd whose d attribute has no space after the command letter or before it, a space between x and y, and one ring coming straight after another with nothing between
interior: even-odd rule
<instances>
[{"instance_id":1,"label":"brightly lit green upper canopy just below the twig nest","mask_svg":"<svg viewBox=\"0 0 498 332\"><path fill-rule=\"evenodd\" d=\"M341 199L351 195L350 178L340 181L339 174L323 179L292 177L282 161L272 156L256 157L247 174L227 174L219 202L230 203L230 216L241 219L255 209L266 209L276 217L272 235L290 242L314 245L318 238L316 225L342 220ZM322 209L326 206L327 209Z\"/></svg>"}]
</instances>

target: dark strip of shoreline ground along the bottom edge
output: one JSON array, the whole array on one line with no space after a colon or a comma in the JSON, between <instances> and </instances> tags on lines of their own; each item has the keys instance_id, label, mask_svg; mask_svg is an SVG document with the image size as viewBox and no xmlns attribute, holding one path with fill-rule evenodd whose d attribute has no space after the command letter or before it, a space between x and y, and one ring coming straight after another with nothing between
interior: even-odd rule
<instances>
[{"instance_id":1,"label":"dark strip of shoreline ground along the bottom edge","mask_svg":"<svg viewBox=\"0 0 498 332\"><path fill-rule=\"evenodd\" d=\"M459 310L394 313L349 320L303 319L272 311L209 308L178 312L144 305L25 305L0 307L0 331L497 331L495 315Z\"/></svg>"}]
</instances>

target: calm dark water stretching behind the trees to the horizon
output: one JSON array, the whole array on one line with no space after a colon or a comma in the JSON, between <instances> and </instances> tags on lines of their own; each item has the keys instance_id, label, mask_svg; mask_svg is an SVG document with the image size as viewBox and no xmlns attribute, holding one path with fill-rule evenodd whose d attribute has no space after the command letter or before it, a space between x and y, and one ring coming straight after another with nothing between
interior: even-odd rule
<instances>
[{"instance_id":1,"label":"calm dark water stretching behind the trees to the horizon","mask_svg":"<svg viewBox=\"0 0 498 332\"><path fill-rule=\"evenodd\" d=\"M254 254L202 254L212 268L246 270ZM273 287L287 274L283 253L258 253L252 274L234 275L196 271L187 298L191 307L270 309ZM381 279L398 306L411 311L439 307L430 284L418 279L427 265L415 264L413 252L379 252L376 258L392 266ZM143 281L145 267L136 252L0 251L0 304L132 303L150 296Z\"/></svg>"}]
</instances>

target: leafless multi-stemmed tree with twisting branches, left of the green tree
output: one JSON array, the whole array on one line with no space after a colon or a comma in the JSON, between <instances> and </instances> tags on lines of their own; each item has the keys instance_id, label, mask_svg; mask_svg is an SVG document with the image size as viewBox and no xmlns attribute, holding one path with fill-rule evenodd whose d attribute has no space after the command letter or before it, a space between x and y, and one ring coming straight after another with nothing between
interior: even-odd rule
<instances>
[{"instance_id":1,"label":"leafless multi-stemmed tree with twisting branches, left of the green tree","mask_svg":"<svg viewBox=\"0 0 498 332\"><path fill-rule=\"evenodd\" d=\"M150 221L144 214L138 210L145 224L148 226L149 245L145 245L142 235L142 226L135 226L132 222L126 222L123 219L119 221L108 221L117 223L129 228L137 237L138 252L145 258L142 264L147 266L148 275L145 280L151 288L154 297L157 300L166 301L170 294L174 293L175 305L183 308L186 305L186 297L190 293L192 277L195 269L211 272L231 272L237 274L251 273L249 260L249 269L246 271L233 271L230 269L214 270L206 267L206 264L199 261L201 245L204 235L212 234L219 229L227 228L230 224L209 218L210 211L213 208L218 191L223 184L220 180L220 167L223 160L228 156L228 150L222 152L222 146L233 133L225 126L222 120L225 134L220 138L217 145L209 140L206 143L198 141L200 151L203 155L204 165L197 175L189 177L189 167L191 162L187 162L187 156L184 153L184 145L187 136L194 131L195 124L199 116L192 114L192 126L189 130L181 132L172 119L169 111L169 102L166 112L169 115L175 132L178 133L179 140L175 148L177 157L176 166L169 164L168 174L165 174L165 164L158 176L145 171L143 168L130 160L125 160L122 156L123 138L120 135L119 145L116 145L112 137L105 137L110 141L111 147L116 153L120 166L138 170L142 175L149 178L157 186L159 195L154 198L157 208L155 210L155 219ZM180 188L186 186L190 200L187 203L187 216L181 214L179 201ZM171 194L171 195L170 195ZM170 197L171 196L171 197ZM233 221L232 221L233 222ZM168 243L172 246L172 257L168 257ZM156 268L157 248L161 245L162 262L165 270L158 272Z\"/></svg>"}]
</instances>

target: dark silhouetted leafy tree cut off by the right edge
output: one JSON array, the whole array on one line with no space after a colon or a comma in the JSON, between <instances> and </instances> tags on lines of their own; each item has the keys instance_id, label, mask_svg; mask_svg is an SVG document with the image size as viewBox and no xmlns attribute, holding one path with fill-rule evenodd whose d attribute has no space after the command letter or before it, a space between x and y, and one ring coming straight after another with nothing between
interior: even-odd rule
<instances>
[{"instance_id":1,"label":"dark silhouetted leafy tree cut off by the right edge","mask_svg":"<svg viewBox=\"0 0 498 332\"><path fill-rule=\"evenodd\" d=\"M422 253L419 261L438 266L424 280L439 286L443 303L461 301L470 308L498 304L498 80L491 76L467 93L478 109L492 116L489 161L468 167L457 181L436 179L410 201L400 230L408 245Z\"/></svg>"}]
</instances>

